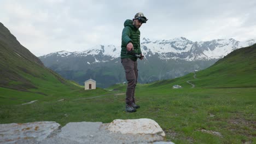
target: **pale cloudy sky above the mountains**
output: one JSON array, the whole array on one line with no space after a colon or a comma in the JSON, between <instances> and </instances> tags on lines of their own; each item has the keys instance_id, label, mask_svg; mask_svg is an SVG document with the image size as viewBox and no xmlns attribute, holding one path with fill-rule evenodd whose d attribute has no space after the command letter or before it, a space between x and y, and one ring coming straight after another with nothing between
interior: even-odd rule
<instances>
[{"instance_id":1,"label":"pale cloudy sky above the mountains","mask_svg":"<svg viewBox=\"0 0 256 144\"><path fill-rule=\"evenodd\" d=\"M0 0L0 22L36 56L120 46L138 12L149 19L141 39L256 39L255 0Z\"/></svg>"}]
</instances>

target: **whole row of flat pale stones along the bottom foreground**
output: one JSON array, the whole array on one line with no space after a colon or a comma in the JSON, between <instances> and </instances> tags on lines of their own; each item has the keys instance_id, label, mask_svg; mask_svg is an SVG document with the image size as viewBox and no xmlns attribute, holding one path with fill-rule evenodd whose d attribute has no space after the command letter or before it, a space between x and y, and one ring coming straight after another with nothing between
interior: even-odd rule
<instances>
[{"instance_id":1,"label":"whole row of flat pale stones along the bottom foreground","mask_svg":"<svg viewBox=\"0 0 256 144\"><path fill-rule=\"evenodd\" d=\"M0 143L152 143L164 136L158 123L146 118L75 122L62 128L56 122L0 124Z\"/></svg>"}]
</instances>

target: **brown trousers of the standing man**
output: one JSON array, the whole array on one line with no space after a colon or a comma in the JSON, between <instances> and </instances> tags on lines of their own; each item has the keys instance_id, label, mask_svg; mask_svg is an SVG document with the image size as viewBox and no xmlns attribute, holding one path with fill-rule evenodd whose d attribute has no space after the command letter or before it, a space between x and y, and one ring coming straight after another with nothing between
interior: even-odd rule
<instances>
[{"instance_id":1,"label":"brown trousers of the standing man","mask_svg":"<svg viewBox=\"0 0 256 144\"><path fill-rule=\"evenodd\" d=\"M126 89L126 104L131 105L131 103L135 103L135 87L137 84L138 78L138 69L137 69L137 61L132 61L130 58L121 59L121 63L125 69L125 77L127 80L127 89Z\"/></svg>"}]
</instances>

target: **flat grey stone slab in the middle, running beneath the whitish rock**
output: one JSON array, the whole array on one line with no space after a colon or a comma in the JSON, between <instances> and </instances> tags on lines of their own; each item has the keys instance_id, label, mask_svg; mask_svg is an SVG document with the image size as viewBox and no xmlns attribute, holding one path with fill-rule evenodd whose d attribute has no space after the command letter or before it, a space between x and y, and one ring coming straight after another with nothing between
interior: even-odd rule
<instances>
[{"instance_id":1,"label":"flat grey stone slab in the middle, running beneath the whitish rock","mask_svg":"<svg viewBox=\"0 0 256 144\"><path fill-rule=\"evenodd\" d=\"M56 135L56 137L53 137L53 139L48 140L46 143L56 143L56 140L63 141L63 139L79 143L112 144L148 143L163 140L163 137L159 135L112 133L108 130L108 127L109 123L103 124L101 122L68 123L61 129L60 134Z\"/></svg>"}]
</instances>

